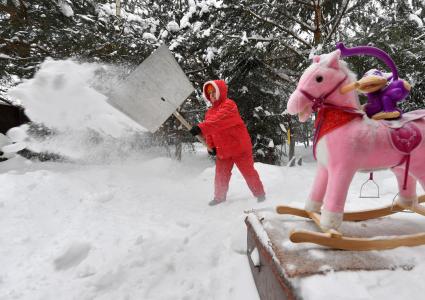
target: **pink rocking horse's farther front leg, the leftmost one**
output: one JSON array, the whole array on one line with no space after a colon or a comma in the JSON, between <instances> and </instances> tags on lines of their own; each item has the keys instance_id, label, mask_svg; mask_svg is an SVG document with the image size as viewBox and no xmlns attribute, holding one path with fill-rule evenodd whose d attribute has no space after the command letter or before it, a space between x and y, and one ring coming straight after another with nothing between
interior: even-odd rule
<instances>
[{"instance_id":1,"label":"pink rocking horse's farther front leg, the leftmost one","mask_svg":"<svg viewBox=\"0 0 425 300\"><path fill-rule=\"evenodd\" d=\"M320 212L323 204L323 198L328 183L328 170L321 164L317 165L316 177L314 178L313 188L311 189L309 199L305 203L305 210L311 212Z\"/></svg>"}]
</instances>

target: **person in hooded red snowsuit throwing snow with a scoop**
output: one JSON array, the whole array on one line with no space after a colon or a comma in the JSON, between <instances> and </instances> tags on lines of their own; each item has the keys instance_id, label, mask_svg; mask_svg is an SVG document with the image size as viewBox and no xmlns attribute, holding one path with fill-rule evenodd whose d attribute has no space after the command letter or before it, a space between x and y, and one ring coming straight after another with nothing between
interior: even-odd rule
<instances>
[{"instance_id":1,"label":"person in hooded red snowsuit throwing snow with a scoop","mask_svg":"<svg viewBox=\"0 0 425 300\"><path fill-rule=\"evenodd\" d=\"M258 201L265 200L260 177L254 168L252 143L248 130L239 115L238 107L227 98L227 85L223 80L208 81L203 94L212 103L205 120L190 130L192 135L202 134L212 155L217 155L214 199L216 205L226 200L233 165L236 164L248 187Z\"/></svg>"}]
</instances>

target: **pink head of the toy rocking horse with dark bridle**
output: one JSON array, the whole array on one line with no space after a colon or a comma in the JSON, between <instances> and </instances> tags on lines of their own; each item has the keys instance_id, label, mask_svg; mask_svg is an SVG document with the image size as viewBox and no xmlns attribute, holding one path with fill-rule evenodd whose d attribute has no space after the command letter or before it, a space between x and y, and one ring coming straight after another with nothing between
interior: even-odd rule
<instances>
[{"instance_id":1,"label":"pink head of the toy rocking horse with dark bridle","mask_svg":"<svg viewBox=\"0 0 425 300\"><path fill-rule=\"evenodd\" d=\"M341 91L344 86L355 82L356 76L340 60L340 56L340 50L314 56L312 65L301 76L287 106L287 111L292 115L298 114L301 122L307 121L313 112L323 106L360 107L357 93L351 91L343 94Z\"/></svg>"}]
</instances>

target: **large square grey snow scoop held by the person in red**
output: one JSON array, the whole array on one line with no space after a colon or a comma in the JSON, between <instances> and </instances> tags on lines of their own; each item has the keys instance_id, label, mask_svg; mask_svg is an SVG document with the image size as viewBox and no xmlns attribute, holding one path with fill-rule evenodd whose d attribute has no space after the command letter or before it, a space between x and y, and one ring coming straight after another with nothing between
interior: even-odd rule
<instances>
[{"instance_id":1,"label":"large square grey snow scoop held by the person in red","mask_svg":"<svg viewBox=\"0 0 425 300\"><path fill-rule=\"evenodd\" d=\"M194 90L164 44L118 86L110 104L150 132L158 130L171 115L190 129L191 124L177 109ZM201 136L197 138L206 145Z\"/></svg>"}]
</instances>

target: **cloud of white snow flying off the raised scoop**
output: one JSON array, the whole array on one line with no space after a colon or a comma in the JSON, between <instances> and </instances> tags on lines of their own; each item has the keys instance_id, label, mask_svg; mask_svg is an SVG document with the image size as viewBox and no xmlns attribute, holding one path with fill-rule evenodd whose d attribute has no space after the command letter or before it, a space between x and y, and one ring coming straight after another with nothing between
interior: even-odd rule
<instances>
[{"instance_id":1,"label":"cloud of white snow flying off the raised scoop","mask_svg":"<svg viewBox=\"0 0 425 300\"><path fill-rule=\"evenodd\" d=\"M22 102L32 121L58 130L90 128L120 136L129 128L141 129L91 86L96 72L104 68L98 64L47 59L34 78L19 84L9 94Z\"/></svg>"}]
</instances>

